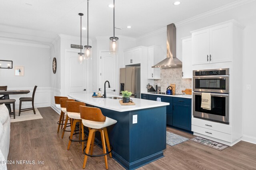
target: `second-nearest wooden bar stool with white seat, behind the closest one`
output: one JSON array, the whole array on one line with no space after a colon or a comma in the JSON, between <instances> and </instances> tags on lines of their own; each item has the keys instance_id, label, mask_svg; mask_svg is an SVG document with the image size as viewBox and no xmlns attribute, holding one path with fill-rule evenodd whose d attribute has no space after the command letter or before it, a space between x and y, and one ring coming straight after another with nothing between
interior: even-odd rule
<instances>
[{"instance_id":1,"label":"second-nearest wooden bar stool with white seat, behind the closest one","mask_svg":"<svg viewBox=\"0 0 256 170\"><path fill-rule=\"evenodd\" d=\"M82 119L80 117L80 106L86 106L83 102L66 102L66 110L67 110L67 117L72 119L72 125L71 125L71 132L68 142L68 150L70 149L71 142L82 142L82 150L84 149L84 125L82 123ZM67 118L66 118L67 119ZM66 122L64 125L64 129L66 128ZM78 133L74 133L76 129L76 123L79 122L79 140L73 140L73 135L76 135ZM82 140L81 139L81 128L82 128ZM64 131L62 133L62 136L64 135Z\"/></svg>"}]
</instances>

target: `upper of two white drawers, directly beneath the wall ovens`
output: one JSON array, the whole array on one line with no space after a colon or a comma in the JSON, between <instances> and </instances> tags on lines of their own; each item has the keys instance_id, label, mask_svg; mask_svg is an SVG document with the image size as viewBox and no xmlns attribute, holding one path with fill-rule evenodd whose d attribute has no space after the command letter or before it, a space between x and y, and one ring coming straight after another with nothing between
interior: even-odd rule
<instances>
[{"instance_id":1,"label":"upper of two white drawers, directly beneath the wall ovens","mask_svg":"<svg viewBox=\"0 0 256 170\"><path fill-rule=\"evenodd\" d=\"M204 119L197 119L197 118L192 118L192 125L196 125L199 127L204 127L207 129L211 129L214 131L219 131L222 133L227 133L231 134L232 128L230 125L226 125L223 123L218 123L218 122L213 122L213 121L207 121Z\"/></svg>"}]
</instances>

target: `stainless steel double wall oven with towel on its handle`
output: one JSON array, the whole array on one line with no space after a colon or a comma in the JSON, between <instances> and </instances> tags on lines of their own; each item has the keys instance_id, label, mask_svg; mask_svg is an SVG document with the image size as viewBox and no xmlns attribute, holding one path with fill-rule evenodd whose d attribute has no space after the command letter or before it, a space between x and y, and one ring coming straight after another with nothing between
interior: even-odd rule
<instances>
[{"instance_id":1,"label":"stainless steel double wall oven with towel on its handle","mask_svg":"<svg viewBox=\"0 0 256 170\"><path fill-rule=\"evenodd\" d=\"M202 93L210 93L211 108L201 107ZM229 123L229 68L193 71L193 116Z\"/></svg>"}]
</instances>

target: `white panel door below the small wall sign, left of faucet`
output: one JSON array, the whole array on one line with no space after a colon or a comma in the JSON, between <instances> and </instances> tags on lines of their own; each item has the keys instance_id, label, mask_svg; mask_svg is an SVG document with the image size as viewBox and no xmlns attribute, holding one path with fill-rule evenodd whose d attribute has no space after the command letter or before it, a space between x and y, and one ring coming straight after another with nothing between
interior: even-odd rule
<instances>
[{"instance_id":1,"label":"white panel door below the small wall sign, left of faucet","mask_svg":"<svg viewBox=\"0 0 256 170\"><path fill-rule=\"evenodd\" d=\"M66 51L66 61L66 94L86 93L87 63L78 64L78 52L76 51Z\"/></svg>"}]
</instances>

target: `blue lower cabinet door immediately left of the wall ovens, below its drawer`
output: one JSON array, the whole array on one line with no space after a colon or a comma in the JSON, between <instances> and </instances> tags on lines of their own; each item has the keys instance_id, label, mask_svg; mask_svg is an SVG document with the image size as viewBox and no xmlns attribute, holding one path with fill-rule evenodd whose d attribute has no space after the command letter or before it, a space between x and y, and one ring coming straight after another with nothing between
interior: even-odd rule
<instances>
[{"instance_id":1,"label":"blue lower cabinet door immediately left of the wall ovens, below its drawer","mask_svg":"<svg viewBox=\"0 0 256 170\"><path fill-rule=\"evenodd\" d=\"M173 121L174 127L179 127L191 131L191 106L186 104L173 103Z\"/></svg>"}]
</instances>

